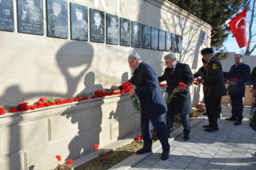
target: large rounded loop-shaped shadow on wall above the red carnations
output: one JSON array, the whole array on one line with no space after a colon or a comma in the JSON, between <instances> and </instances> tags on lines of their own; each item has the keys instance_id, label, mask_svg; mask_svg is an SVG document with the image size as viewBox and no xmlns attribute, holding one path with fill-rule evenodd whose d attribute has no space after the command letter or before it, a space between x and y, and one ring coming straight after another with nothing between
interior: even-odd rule
<instances>
[{"instance_id":1,"label":"large rounded loop-shaped shadow on wall above the red carnations","mask_svg":"<svg viewBox=\"0 0 256 170\"><path fill-rule=\"evenodd\" d=\"M28 99L40 99L40 97L59 97L62 99L68 99L69 97L74 97L74 92L78 86L79 80L85 75L85 72L89 69L91 65L92 58L94 56L94 50L91 48L91 45L84 41L72 41L64 46L62 46L57 52L56 60L59 65L59 69L63 73L67 86L66 94L63 92L31 92L23 93L20 91L20 86L10 86L5 90L5 94L0 97L1 103L16 103L16 99L22 99L22 101L27 101ZM84 68L80 70L79 73L76 73L76 76L72 75L69 69L75 67ZM58 75L56 75L58 76ZM88 89L89 90L89 89ZM14 101L8 101L14 100ZM19 103L16 103L18 105ZM33 104L33 103L29 103ZM14 104L15 105L15 104Z\"/></svg>"}]
</instances>

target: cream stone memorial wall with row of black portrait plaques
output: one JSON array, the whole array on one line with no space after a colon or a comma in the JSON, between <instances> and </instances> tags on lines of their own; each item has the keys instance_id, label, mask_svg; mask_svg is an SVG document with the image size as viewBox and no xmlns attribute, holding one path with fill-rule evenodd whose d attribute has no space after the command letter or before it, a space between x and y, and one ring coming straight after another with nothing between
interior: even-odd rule
<instances>
[{"instance_id":1,"label":"cream stone memorial wall with row of black portrait plaques","mask_svg":"<svg viewBox=\"0 0 256 170\"><path fill-rule=\"evenodd\" d=\"M130 78L133 52L157 75L168 52L195 73L211 29L164 0L0 0L0 107L39 105L44 97L90 98ZM190 92L195 105L201 86L190 86ZM0 115L0 167L53 169L57 154L79 158L94 143L104 147L139 127L128 95L7 109Z\"/></svg>"}]
</instances>

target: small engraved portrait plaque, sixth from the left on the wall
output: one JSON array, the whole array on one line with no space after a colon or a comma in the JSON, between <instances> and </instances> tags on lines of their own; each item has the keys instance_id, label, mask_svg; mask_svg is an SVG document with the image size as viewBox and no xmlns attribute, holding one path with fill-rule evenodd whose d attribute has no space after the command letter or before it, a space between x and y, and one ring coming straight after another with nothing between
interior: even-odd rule
<instances>
[{"instance_id":1,"label":"small engraved portrait plaque, sixth from the left on the wall","mask_svg":"<svg viewBox=\"0 0 256 170\"><path fill-rule=\"evenodd\" d=\"M118 45L119 24L118 16L106 14L106 44Z\"/></svg>"}]
</instances>

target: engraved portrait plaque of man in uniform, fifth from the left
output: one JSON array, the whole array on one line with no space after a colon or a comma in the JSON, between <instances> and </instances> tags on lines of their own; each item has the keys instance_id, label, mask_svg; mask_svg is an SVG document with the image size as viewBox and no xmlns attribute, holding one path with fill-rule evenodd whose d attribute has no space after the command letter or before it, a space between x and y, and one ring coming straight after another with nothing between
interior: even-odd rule
<instances>
[{"instance_id":1,"label":"engraved portrait plaque of man in uniform, fifth from the left","mask_svg":"<svg viewBox=\"0 0 256 170\"><path fill-rule=\"evenodd\" d=\"M104 43L104 12L90 8L90 41Z\"/></svg>"}]
</instances>

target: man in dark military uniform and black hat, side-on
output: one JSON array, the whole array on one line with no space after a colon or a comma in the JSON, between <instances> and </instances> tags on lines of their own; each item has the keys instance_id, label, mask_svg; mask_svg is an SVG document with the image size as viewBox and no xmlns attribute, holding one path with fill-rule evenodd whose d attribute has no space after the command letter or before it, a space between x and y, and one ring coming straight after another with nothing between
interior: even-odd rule
<instances>
[{"instance_id":1,"label":"man in dark military uniform and black hat, side-on","mask_svg":"<svg viewBox=\"0 0 256 170\"><path fill-rule=\"evenodd\" d=\"M221 105L221 97L227 95L223 68L221 67L221 62L214 56L212 48L203 48L201 54L203 59L208 62L206 78L201 81L201 84L207 88L207 105L205 107L209 125L203 127L207 128L204 129L207 132L218 131L217 116Z\"/></svg>"}]
</instances>

